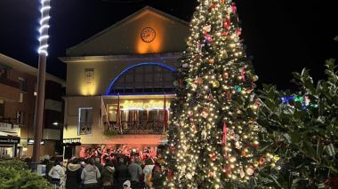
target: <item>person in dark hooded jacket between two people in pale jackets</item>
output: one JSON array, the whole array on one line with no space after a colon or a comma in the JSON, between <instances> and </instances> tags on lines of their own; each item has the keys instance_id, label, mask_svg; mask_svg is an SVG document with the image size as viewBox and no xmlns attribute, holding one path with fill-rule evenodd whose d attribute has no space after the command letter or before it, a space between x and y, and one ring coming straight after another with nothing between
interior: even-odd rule
<instances>
[{"instance_id":1,"label":"person in dark hooded jacket between two people in pale jackets","mask_svg":"<svg viewBox=\"0 0 338 189\"><path fill-rule=\"evenodd\" d=\"M66 169L66 189L76 189L81 184L82 167L77 161L70 161Z\"/></svg>"}]
</instances>

